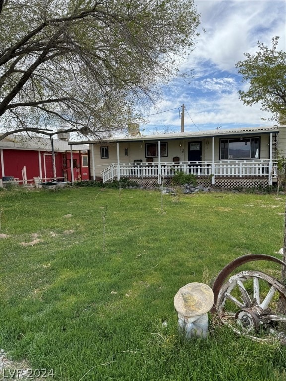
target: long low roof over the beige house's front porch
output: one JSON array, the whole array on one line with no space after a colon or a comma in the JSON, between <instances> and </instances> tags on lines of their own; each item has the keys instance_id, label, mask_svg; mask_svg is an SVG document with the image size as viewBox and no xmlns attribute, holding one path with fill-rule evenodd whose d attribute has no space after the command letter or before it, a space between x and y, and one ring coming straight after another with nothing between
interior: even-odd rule
<instances>
[{"instance_id":1,"label":"long low roof over the beige house's front porch","mask_svg":"<svg viewBox=\"0 0 286 381\"><path fill-rule=\"evenodd\" d=\"M182 139L191 139L191 138L210 138L214 136L241 136L241 135L255 135L255 134L270 134L278 133L277 126L270 127L245 127L245 128L231 128L231 129L213 129L205 131L195 131L195 132L176 132L176 133L166 133L159 135L139 135L139 136L117 136L110 137L103 140L91 140L88 144L102 144L103 142L107 143L118 143L118 142L131 142L131 141L152 141L152 140L182 140ZM69 145L82 144L83 142L69 141Z\"/></svg>"}]
</instances>

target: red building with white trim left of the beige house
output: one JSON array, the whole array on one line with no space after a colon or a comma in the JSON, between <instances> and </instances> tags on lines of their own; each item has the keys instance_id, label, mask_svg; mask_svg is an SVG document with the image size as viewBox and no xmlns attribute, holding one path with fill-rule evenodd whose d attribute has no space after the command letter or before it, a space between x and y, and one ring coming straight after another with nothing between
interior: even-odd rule
<instances>
[{"instance_id":1,"label":"red building with white trim left of the beige house","mask_svg":"<svg viewBox=\"0 0 286 381\"><path fill-rule=\"evenodd\" d=\"M85 144L77 145L71 154L66 133L58 133L57 139L7 136L0 140L0 180L4 184L6 181L28 184L33 183L34 178L89 180L88 148Z\"/></svg>"}]
</instances>

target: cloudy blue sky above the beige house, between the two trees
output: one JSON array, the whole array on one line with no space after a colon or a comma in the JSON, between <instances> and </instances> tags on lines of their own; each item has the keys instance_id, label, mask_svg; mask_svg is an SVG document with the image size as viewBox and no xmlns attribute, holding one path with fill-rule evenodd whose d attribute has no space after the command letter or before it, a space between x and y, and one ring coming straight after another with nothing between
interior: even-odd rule
<instances>
[{"instance_id":1,"label":"cloudy blue sky above the beige house, between the two trees","mask_svg":"<svg viewBox=\"0 0 286 381\"><path fill-rule=\"evenodd\" d=\"M244 53L255 54L258 41L271 48L274 36L280 37L277 50L285 51L286 1L194 3L201 14L200 36L180 65L182 72L193 69L193 78L177 78L162 88L163 99L148 110L148 123L140 125L141 132L180 132L183 104L185 132L272 126L275 122L261 120L271 114L262 112L260 104L246 106L239 99L238 91L247 90L248 84L241 81L235 64L245 59Z\"/></svg>"}]
</instances>

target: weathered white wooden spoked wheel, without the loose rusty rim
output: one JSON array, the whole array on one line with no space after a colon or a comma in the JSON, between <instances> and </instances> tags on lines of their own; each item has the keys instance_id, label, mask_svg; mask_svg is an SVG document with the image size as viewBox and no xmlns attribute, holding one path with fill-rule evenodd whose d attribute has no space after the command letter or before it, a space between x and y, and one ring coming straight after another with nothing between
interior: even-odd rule
<instances>
[{"instance_id":1,"label":"weathered white wooden spoked wheel, without the loose rusty rim","mask_svg":"<svg viewBox=\"0 0 286 381\"><path fill-rule=\"evenodd\" d=\"M279 301L276 293L283 299L286 296L285 286L276 278L260 271L244 270L231 276L221 287L217 312L223 323L239 334L262 342L281 341L285 337L286 317L275 312ZM253 333L248 329L247 317L249 326L253 322ZM235 324L238 320L241 330Z\"/></svg>"}]
</instances>

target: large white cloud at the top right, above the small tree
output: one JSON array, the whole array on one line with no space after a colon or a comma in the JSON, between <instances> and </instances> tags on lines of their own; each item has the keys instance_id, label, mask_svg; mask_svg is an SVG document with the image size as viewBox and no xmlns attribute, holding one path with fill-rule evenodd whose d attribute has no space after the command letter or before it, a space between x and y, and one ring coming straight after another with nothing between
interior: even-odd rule
<instances>
[{"instance_id":1,"label":"large white cloud at the top right, above the small tree","mask_svg":"<svg viewBox=\"0 0 286 381\"><path fill-rule=\"evenodd\" d=\"M284 1L195 1L201 13L201 33L191 59L212 60L221 70L235 70L243 53L254 53L257 41L271 45L281 36L285 47ZM194 58L193 56L193 58Z\"/></svg>"}]
</instances>

